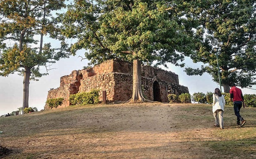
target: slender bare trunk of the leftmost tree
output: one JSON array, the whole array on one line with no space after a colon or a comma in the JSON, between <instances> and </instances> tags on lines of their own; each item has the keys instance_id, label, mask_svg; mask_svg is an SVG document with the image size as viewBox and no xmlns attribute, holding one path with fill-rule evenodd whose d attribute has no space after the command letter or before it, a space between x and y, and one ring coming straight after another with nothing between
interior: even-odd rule
<instances>
[{"instance_id":1,"label":"slender bare trunk of the leftmost tree","mask_svg":"<svg viewBox=\"0 0 256 159\"><path fill-rule=\"evenodd\" d=\"M29 79L31 70L25 67L24 80L23 80L23 109L28 108L28 94L29 94Z\"/></svg>"}]
</instances>

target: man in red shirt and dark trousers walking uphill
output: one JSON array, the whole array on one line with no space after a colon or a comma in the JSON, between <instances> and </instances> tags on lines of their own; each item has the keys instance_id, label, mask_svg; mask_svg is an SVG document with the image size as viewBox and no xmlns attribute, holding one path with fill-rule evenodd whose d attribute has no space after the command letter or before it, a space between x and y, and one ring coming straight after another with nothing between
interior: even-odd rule
<instances>
[{"instance_id":1,"label":"man in red shirt and dark trousers walking uphill","mask_svg":"<svg viewBox=\"0 0 256 159\"><path fill-rule=\"evenodd\" d=\"M244 118L242 118L242 116L240 115L240 109L242 108L242 106L245 107L244 96L242 94L242 90L237 88L234 83L230 83L230 87L230 100L234 104L234 111L235 115L237 116L237 125L240 125L240 127L242 127L246 123L246 120L244 120Z\"/></svg>"}]
</instances>

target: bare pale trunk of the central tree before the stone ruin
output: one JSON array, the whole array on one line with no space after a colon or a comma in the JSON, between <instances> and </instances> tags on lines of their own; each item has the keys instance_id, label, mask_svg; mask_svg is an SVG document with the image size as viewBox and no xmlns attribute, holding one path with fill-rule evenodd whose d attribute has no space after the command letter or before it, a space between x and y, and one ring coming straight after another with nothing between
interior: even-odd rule
<instances>
[{"instance_id":1,"label":"bare pale trunk of the central tree before the stone ruin","mask_svg":"<svg viewBox=\"0 0 256 159\"><path fill-rule=\"evenodd\" d=\"M142 103L147 101L142 96L141 89L141 62L133 60L133 97L129 100L130 103Z\"/></svg>"}]
</instances>

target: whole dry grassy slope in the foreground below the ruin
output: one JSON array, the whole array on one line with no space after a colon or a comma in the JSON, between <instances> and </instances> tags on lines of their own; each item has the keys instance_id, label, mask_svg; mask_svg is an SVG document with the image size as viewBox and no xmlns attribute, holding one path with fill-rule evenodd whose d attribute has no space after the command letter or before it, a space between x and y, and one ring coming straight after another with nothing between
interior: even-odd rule
<instances>
[{"instance_id":1,"label":"whole dry grassy slope in the foreground below the ruin","mask_svg":"<svg viewBox=\"0 0 256 159\"><path fill-rule=\"evenodd\" d=\"M242 108L236 125L226 106L214 127L211 105L114 104L70 106L0 118L0 158L256 158L256 108Z\"/></svg>"}]
</instances>

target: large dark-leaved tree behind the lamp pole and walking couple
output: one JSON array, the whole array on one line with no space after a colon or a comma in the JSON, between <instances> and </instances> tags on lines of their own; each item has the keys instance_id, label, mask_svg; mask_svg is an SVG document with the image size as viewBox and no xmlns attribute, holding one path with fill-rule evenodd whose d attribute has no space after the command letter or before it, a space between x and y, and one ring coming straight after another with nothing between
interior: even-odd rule
<instances>
[{"instance_id":1,"label":"large dark-leaved tree behind the lamp pole and walking couple","mask_svg":"<svg viewBox=\"0 0 256 159\"><path fill-rule=\"evenodd\" d=\"M219 82L218 69L224 92L229 92L230 82L242 88L256 84L256 0L196 0L191 3L187 17L198 21L197 53L194 62L203 62L197 69L187 68L188 75L204 72ZM216 52L211 40L223 41Z\"/></svg>"}]
</instances>

